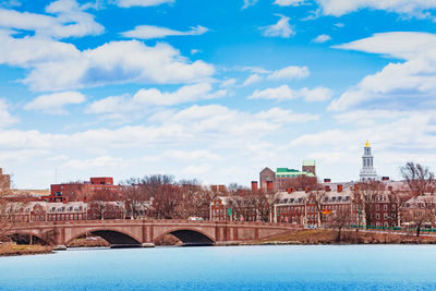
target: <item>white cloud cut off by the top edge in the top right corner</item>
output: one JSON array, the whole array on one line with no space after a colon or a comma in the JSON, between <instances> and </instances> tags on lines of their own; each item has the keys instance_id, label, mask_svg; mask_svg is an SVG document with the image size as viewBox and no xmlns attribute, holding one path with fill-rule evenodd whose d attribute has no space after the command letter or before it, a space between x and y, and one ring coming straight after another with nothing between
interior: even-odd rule
<instances>
[{"instance_id":1,"label":"white cloud cut off by the top edge in the top right corner","mask_svg":"<svg viewBox=\"0 0 436 291\"><path fill-rule=\"evenodd\" d=\"M361 9L385 10L416 17L428 17L435 0L316 0L324 15L341 16Z\"/></svg>"}]
</instances>

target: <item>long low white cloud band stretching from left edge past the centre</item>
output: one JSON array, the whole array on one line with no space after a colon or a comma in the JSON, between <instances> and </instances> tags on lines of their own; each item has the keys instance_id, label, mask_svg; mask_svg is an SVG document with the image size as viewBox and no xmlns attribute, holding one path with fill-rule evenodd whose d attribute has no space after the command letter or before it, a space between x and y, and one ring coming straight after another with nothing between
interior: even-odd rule
<instances>
[{"instance_id":1,"label":"long low white cloud band stretching from left edge past the centre","mask_svg":"<svg viewBox=\"0 0 436 291\"><path fill-rule=\"evenodd\" d=\"M277 113L277 109L271 109ZM166 113L157 111L149 125L97 128L68 133L41 133L37 130L0 130L0 148L59 150L80 149L105 153L113 148L144 148L148 146L184 144L219 145L228 148L238 143L261 138L291 122L277 119L275 113L245 112L220 105L194 105ZM292 112L291 114L298 114ZM52 151L52 155L56 153Z\"/></svg>"}]
</instances>

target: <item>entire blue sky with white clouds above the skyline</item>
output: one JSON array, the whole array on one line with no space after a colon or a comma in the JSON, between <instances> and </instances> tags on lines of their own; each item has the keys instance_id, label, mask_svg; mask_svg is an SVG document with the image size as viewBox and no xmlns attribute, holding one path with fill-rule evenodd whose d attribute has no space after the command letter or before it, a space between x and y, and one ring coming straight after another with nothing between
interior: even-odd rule
<instances>
[{"instance_id":1,"label":"entire blue sky with white clouds above the skyline","mask_svg":"<svg viewBox=\"0 0 436 291\"><path fill-rule=\"evenodd\" d=\"M17 187L150 173L249 185L316 159L436 166L434 0L0 0Z\"/></svg>"}]
</instances>

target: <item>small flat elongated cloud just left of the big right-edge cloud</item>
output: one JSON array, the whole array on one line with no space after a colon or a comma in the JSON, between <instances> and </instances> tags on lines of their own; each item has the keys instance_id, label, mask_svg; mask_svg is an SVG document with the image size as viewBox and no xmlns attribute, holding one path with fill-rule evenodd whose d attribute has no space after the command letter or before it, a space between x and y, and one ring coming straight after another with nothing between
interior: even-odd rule
<instances>
[{"instance_id":1,"label":"small flat elongated cloud just left of the big right-edge cloud","mask_svg":"<svg viewBox=\"0 0 436 291\"><path fill-rule=\"evenodd\" d=\"M266 88L263 90L256 89L249 99L269 99L269 100L292 100L303 98L308 102L325 101L330 99L332 92L329 88L316 87L314 89L301 88L291 89L288 85L281 85L276 88Z\"/></svg>"}]
</instances>

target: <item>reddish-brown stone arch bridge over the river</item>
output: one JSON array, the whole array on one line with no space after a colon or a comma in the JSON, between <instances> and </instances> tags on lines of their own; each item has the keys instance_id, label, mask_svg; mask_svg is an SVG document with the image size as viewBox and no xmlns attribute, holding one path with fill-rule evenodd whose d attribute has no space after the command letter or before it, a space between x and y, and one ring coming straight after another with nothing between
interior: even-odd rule
<instances>
[{"instance_id":1,"label":"reddish-brown stone arch bridge over the river","mask_svg":"<svg viewBox=\"0 0 436 291\"><path fill-rule=\"evenodd\" d=\"M153 246L157 238L172 234L184 245L214 245L250 242L303 229L291 223L191 220L76 220L19 223L14 233L29 234L55 245L93 233L112 247Z\"/></svg>"}]
</instances>

